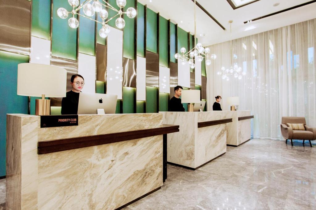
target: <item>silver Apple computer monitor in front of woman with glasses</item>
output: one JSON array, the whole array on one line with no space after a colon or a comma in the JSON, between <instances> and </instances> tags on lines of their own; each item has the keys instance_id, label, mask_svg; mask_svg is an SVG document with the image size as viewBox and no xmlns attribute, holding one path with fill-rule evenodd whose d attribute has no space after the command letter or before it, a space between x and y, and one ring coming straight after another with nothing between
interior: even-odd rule
<instances>
[{"instance_id":1,"label":"silver Apple computer monitor in front of woman with glasses","mask_svg":"<svg viewBox=\"0 0 316 210\"><path fill-rule=\"evenodd\" d=\"M105 114L114 114L116 110L117 95L100 93L79 94L78 115L97 114L97 109L104 109Z\"/></svg>"}]
</instances>

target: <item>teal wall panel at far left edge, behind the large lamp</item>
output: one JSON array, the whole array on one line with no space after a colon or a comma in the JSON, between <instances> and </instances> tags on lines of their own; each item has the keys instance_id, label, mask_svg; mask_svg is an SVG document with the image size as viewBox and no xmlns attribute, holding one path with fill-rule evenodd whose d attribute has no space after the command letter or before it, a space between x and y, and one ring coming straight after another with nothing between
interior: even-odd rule
<instances>
[{"instance_id":1,"label":"teal wall panel at far left edge, behind the large lamp","mask_svg":"<svg viewBox=\"0 0 316 210\"><path fill-rule=\"evenodd\" d=\"M28 63L29 57L0 51L0 176L6 175L6 114L27 114L28 97L16 94L18 64Z\"/></svg>"}]
</instances>

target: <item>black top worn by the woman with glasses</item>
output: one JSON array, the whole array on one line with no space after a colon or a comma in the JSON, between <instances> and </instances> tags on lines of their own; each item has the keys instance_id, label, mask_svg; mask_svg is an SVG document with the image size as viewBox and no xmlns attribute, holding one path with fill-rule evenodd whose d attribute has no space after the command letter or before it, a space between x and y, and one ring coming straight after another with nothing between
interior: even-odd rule
<instances>
[{"instance_id":1,"label":"black top worn by the woman with glasses","mask_svg":"<svg viewBox=\"0 0 316 210\"><path fill-rule=\"evenodd\" d=\"M61 101L62 115L76 115L78 113L79 93L70 90Z\"/></svg>"}]
</instances>

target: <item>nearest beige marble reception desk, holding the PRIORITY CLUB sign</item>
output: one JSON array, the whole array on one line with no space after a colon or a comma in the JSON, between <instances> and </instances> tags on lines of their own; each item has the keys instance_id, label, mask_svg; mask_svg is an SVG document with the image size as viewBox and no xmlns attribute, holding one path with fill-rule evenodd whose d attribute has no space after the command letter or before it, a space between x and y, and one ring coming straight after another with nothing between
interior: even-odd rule
<instances>
[{"instance_id":1,"label":"nearest beige marble reception desk, holding the PRIORITY CLUB sign","mask_svg":"<svg viewBox=\"0 0 316 210\"><path fill-rule=\"evenodd\" d=\"M6 209L117 209L163 183L162 114L7 115ZM178 129L178 128L177 128Z\"/></svg>"}]
</instances>

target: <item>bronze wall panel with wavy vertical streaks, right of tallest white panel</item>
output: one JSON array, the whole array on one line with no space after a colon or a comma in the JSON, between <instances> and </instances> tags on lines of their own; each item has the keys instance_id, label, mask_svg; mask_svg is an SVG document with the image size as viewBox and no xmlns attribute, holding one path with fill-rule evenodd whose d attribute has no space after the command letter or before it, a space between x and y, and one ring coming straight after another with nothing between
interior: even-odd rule
<instances>
[{"instance_id":1,"label":"bronze wall panel with wavy vertical streaks, right of tallest white panel","mask_svg":"<svg viewBox=\"0 0 316 210\"><path fill-rule=\"evenodd\" d=\"M136 88L136 60L123 58L123 86Z\"/></svg>"}]
</instances>

